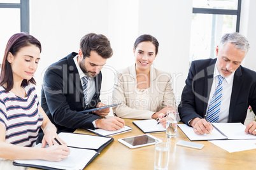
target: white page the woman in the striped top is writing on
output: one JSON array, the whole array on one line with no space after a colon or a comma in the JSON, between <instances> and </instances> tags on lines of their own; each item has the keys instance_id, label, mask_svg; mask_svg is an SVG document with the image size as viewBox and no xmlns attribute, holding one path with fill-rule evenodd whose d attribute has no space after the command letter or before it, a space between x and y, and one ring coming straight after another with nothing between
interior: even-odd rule
<instances>
[{"instance_id":1,"label":"white page the woman in the striped top is writing on","mask_svg":"<svg viewBox=\"0 0 256 170\"><path fill-rule=\"evenodd\" d=\"M36 148L41 147L41 143L36 145ZM47 160L15 160L18 164L29 164L36 166L53 167L57 169L83 169L85 165L94 157L96 152L94 150L69 148L70 154L68 159L59 162L50 162Z\"/></svg>"}]
</instances>

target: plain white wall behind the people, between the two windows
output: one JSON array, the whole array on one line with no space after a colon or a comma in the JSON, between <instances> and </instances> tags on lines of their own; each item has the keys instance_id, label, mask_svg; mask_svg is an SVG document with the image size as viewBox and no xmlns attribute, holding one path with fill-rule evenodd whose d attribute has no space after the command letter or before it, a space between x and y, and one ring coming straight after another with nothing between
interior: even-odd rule
<instances>
[{"instance_id":1,"label":"plain white wall behind the people, between the two windows","mask_svg":"<svg viewBox=\"0 0 256 170\"><path fill-rule=\"evenodd\" d=\"M30 12L31 34L43 46L38 89L46 67L78 51L80 38L95 32L107 36L114 50L103 69L101 99L109 104L113 72L134 63L136 37L152 34L160 43L155 67L173 73L174 93L180 99L188 72L192 1L38 0L31 1Z\"/></svg>"}]
</instances>

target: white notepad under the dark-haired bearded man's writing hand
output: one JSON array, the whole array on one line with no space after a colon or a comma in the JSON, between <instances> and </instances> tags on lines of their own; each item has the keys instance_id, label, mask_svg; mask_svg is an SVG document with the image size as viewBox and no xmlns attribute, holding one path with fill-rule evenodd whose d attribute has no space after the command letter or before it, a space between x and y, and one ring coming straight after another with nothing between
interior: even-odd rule
<instances>
[{"instance_id":1,"label":"white notepad under the dark-haired bearded man's writing hand","mask_svg":"<svg viewBox=\"0 0 256 170\"><path fill-rule=\"evenodd\" d=\"M92 132L94 134L97 134L99 136L113 136L115 134L126 133L126 132L129 132L131 130L132 130L132 128L129 127L129 126L126 126L126 125L124 126L124 128L121 128L117 131L106 131L104 129L95 129L95 130L87 129L87 131L90 131L90 132Z\"/></svg>"}]
</instances>

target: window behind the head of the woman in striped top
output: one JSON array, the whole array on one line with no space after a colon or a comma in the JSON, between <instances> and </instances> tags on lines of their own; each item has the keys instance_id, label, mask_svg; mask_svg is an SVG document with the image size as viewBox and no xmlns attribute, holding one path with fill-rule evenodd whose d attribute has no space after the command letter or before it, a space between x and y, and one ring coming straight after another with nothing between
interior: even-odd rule
<instances>
[{"instance_id":1,"label":"window behind the head of the woman in striped top","mask_svg":"<svg viewBox=\"0 0 256 170\"><path fill-rule=\"evenodd\" d=\"M29 33L29 0L0 0L0 16L1 63L8 39L17 32Z\"/></svg>"}]
</instances>

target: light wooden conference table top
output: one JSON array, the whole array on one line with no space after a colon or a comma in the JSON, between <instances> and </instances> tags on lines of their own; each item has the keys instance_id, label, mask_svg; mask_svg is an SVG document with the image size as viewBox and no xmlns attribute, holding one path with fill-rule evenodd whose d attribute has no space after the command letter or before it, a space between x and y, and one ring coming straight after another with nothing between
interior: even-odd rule
<instances>
[{"instance_id":1,"label":"light wooden conference table top","mask_svg":"<svg viewBox=\"0 0 256 170\"><path fill-rule=\"evenodd\" d=\"M125 125L132 131L111 136L114 138L101 153L92 160L85 169L153 169L155 145L141 148L128 148L118 142L118 138L144 134L132 121L124 119ZM77 129L75 133L92 134L85 129ZM150 133L157 138L165 137L165 133ZM181 147L176 145L179 140L188 140L187 136L178 128L176 138L171 139L168 169L255 169L256 150L229 153L209 141L193 141L204 144L203 149ZM30 170L35 168L29 168Z\"/></svg>"}]
</instances>

